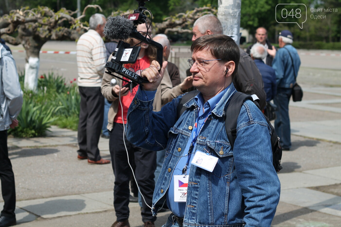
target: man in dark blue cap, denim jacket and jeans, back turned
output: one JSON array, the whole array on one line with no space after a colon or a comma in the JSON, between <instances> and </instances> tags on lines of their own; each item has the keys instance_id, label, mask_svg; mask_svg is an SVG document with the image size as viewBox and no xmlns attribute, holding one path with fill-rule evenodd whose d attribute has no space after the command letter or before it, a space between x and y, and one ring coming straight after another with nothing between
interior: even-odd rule
<instances>
[{"instance_id":1,"label":"man in dark blue cap, denim jacket and jeans, back turned","mask_svg":"<svg viewBox=\"0 0 341 227\"><path fill-rule=\"evenodd\" d=\"M289 100L301 64L297 50L291 45L292 43L293 34L288 30L283 30L278 37L280 49L277 52L268 50L269 54L275 57L272 61L277 84L277 94L273 99L277 105L275 130L281 140L282 149L287 151L291 148Z\"/></svg>"}]
</instances>

